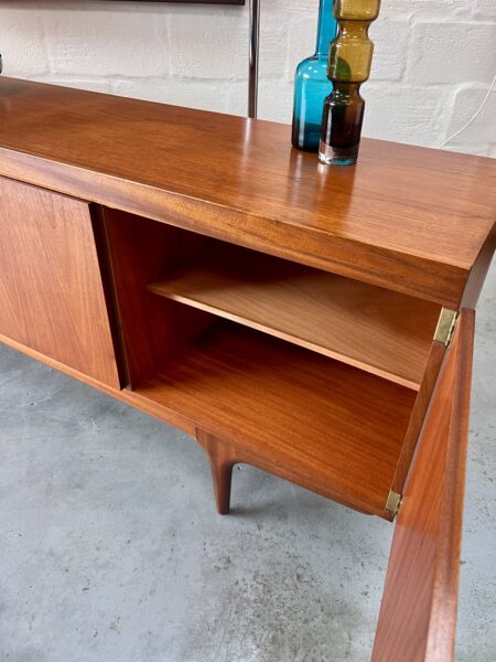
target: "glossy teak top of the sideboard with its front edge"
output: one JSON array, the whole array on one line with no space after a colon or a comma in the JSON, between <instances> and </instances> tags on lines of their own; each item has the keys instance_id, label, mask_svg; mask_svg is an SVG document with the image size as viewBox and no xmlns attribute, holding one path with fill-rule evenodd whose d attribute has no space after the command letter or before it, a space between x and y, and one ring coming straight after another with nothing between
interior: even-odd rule
<instances>
[{"instance_id":1,"label":"glossy teak top of the sideboard with its front edge","mask_svg":"<svg viewBox=\"0 0 496 662\"><path fill-rule=\"evenodd\" d=\"M13 78L0 174L454 309L494 241L495 160L364 139L326 168L285 125Z\"/></svg>"}]
</instances>

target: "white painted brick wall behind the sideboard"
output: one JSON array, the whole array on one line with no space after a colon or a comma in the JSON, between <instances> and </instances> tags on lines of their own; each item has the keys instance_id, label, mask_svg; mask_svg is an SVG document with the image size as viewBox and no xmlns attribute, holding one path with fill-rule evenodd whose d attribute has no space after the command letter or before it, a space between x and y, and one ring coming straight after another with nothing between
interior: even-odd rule
<instances>
[{"instance_id":1,"label":"white painted brick wall behind the sideboard","mask_svg":"<svg viewBox=\"0 0 496 662\"><path fill-rule=\"evenodd\" d=\"M291 121L292 78L319 0L261 0L259 113ZM0 0L4 73L244 115L247 7ZM382 0L364 135L436 147L496 72L496 0ZM496 89L448 149L496 157Z\"/></svg>"}]
</instances>

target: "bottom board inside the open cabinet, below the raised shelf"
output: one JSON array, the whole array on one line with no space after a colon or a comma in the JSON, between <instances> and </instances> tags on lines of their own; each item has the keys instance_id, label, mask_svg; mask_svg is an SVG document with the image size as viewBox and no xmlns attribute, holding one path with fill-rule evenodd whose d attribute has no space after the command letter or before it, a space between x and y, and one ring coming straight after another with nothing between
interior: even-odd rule
<instances>
[{"instance_id":1,"label":"bottom board inside the open cabinet, below the raised shelf","mask_svg":"<svg viewBox=\"0 0 496 662\"><path fill-rule=\"evenodd\" d=\"M385 516L416 394L218 321L133 397L165 419L179 414L236 440L242 461Z\"/></svg>"}]
</instances>

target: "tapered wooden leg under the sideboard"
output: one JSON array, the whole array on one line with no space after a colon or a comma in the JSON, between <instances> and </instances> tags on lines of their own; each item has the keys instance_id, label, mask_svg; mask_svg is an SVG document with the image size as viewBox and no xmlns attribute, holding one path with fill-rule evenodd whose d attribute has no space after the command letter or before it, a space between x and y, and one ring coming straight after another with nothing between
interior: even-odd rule
<instances>
[{"instance_id":1,"label":"tapered wooden leg under the sideboard","mask_svg":"<svg viewBox=\"0 0 496 662\"><path fill-rule=\"evenodd\" d=\"M234 449L229 444L203 430L196 430L196 439L211 461L217 512L229 514L233 467L236 463Z\"/></svg>"}]
</instances>

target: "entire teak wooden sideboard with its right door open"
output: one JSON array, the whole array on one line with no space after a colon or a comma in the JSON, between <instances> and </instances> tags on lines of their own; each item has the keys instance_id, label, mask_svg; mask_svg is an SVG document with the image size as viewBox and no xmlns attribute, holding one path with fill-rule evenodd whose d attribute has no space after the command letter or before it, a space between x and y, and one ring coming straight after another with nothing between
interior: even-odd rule
<instances>
[{"instance_id":1,"label":"entire teak wooden sideboard with its right door open","mask_svg":"<svg viewBox=\"0 0 496 662\"><path fill-rule=\"evenodd\" d=\"M453 656L496 161L0 79L0 339L395 520L373 660ZM198 495L200 499L200 495Z\"/></svg>"}]
</instances>

